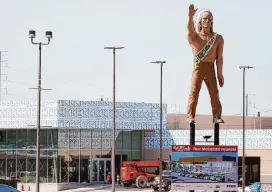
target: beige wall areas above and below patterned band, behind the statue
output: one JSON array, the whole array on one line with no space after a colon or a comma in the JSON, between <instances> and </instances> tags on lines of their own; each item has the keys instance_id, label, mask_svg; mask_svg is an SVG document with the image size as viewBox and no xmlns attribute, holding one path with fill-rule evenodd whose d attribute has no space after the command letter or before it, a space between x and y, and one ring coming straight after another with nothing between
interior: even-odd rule
<instances>
[{"instance_id":1,"label":"beige wall areas above and below patterned band, behind the statue","mask_svg":"<svg viewBox=\"0 0 272 192\"><path fill-rule=\"evenodd\" d=\"M221 130L241 130L243 128L242 116L224 116L224 124L220 124ZM197 115L196 130L209 129L213 130L211 115ZM186 122L185 114L168 114L167 115L168 130L188 130L189 126ZM245 129L272 129L272 117L249 116L245 117ZM271 142L271 141L270 141ZM242 156L242 150L238 152ZM163 149L163 160L169 161L171 149ZM272 183L272 148L263 149L247 149L246 156L261 158L261 182ZM144 149L144 160L155 160L159 158L159 149Z\"/></svg>"}]
</instances>

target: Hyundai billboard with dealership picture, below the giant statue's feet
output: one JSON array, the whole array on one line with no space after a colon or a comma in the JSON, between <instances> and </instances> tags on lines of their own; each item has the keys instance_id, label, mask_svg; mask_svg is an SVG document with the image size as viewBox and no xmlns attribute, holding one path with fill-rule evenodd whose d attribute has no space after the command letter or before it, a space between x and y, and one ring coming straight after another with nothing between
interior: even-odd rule
<instances>
[{"instance_id":1,"label":"Hyundai billboard with dealership picture, below the giant statue's feet","mask_svg":"<svg viewBox=\"0 0 272 192\"><path fill-rule=\"evenodd\" d=\"M173 145L173 190L237 190L238 146Z\"/></svg>"}]
</instances>

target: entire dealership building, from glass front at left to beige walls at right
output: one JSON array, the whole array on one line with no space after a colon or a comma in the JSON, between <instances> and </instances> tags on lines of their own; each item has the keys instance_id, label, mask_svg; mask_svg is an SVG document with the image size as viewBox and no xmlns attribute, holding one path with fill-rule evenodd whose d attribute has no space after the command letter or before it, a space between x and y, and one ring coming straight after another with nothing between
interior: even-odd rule
<instances>
[{"instance_id":1,"label":"entire dealership building, from glass front at left to beige walls at right","mask_svg":"<svg viewBox=\"0 0 272 192\"><path fill-rule=\"evenodd\" d=\"M159 158L160 105L118 102L116 168L125 160ZM41 182L104 182L111 165L112 103L108 101L42 101ZM209 115L197 115L196 140L213 136ZM184 114L167 113L163 105L163 160L171 145L188 145ZM242 118L224 116L220 145L239 146L241 176ZM0 177L35 181L37 103L0 102ZM272 181L272 118L246 117L246 182ZM213 140L213 137L211 138Z\"/></svg>"}]
</instances>

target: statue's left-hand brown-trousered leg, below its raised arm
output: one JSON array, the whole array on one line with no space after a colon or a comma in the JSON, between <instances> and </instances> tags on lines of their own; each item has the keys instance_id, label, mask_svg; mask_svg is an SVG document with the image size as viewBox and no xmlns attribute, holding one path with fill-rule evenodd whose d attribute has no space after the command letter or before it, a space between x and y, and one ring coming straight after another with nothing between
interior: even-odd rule
<instances>
[{"instance_id":1,"label":"statue's left-hand brown-trousered leg, below its raised arm","mask_svg":"<svg viewBox=\"0 0 272 192\"><path fill-rule=\"evenodd\" d=\"M191 88L187 105L187 121L195 123L196 106L198 102L199 91L203 81L203 69L201 65L195 67L192 73Z\"/></svg>"}]
</instances>

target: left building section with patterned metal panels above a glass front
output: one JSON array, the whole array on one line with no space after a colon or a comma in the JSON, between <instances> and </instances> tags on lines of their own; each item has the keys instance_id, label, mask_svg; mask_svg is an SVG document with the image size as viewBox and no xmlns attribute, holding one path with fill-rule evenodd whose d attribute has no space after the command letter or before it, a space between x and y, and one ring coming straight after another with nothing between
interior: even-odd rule
<instances>
[{"instance_id":1,"label":"left building section with patterned metal panels above a glass front","mask_svg":"<svg viewBox=\"0 0 272 192\"><path fill-rule=\"evenodd\" d=\"M160 127L160 105L116 105L116 168L141 160L144 132ZM166 129L166 105L163 106ZM35 182L37 103L0 102L0 177ZM112 103L42 101L40 181L104 182L111 169Z\"/></svg>"}]
</instances>

